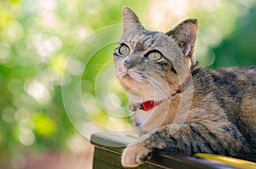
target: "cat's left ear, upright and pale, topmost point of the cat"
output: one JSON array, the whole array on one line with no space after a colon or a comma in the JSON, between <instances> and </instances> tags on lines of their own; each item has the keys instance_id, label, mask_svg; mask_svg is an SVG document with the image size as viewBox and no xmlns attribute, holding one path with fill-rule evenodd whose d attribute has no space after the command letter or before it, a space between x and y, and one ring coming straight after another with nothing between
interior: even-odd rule
<instances>
[{"instance_id":1,"label":"cat's left ear, upright and pale, topmost point of the cat","mask_svg":"<svg viewBox=\"0 0 256 169\"><path fill-rule=\"evenodd\" d=\"M143 25L138 19L137 15L131 10L131 8L124 7L123 8L123 31L137 31L138 29L142 29Z\"/></svg>"}]
</instances>

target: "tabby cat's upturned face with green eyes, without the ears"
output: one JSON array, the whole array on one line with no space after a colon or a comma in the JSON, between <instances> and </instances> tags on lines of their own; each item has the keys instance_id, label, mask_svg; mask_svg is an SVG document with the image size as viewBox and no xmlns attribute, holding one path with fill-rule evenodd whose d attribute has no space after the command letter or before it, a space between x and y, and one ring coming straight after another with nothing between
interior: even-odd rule
<instances>
[{"instance_id":1,"label":"tabby cat's upturned face with green eyes, without the ears","mask_svg":"<svg viewBox=\"0 0 256 169\"><path fill-rule=\"evenodd\" d=\"M180 51L171 48L177 45L160 32L138 31L122 38L115 49L114 62L125 90L132 96L138 94L143 101L166 99L166 93L173 93L178 79L171 58Z\"/></svg>"}]
</instances>

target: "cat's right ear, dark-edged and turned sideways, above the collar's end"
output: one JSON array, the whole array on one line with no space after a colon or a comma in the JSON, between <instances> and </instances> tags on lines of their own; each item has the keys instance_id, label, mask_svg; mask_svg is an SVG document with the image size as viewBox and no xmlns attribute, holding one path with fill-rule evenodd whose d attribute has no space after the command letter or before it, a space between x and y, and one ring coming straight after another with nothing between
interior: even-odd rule
<instances>
[{"instance_id":1,"label":"cat's right ear, dark-edged and turned sideways, above the collar's end","mask_svg":"<svg viewBox=\"0 0 256 169\"><path fill-rule=\"evenodd\" d=\"M192 65L195 65L196 59L193 53L197 36L197 20L184 20L172 29L172 31L166 32L166 34L177 42L179 48L183 50L183 54L191 57Z\"/></svg>"}]
</instances>

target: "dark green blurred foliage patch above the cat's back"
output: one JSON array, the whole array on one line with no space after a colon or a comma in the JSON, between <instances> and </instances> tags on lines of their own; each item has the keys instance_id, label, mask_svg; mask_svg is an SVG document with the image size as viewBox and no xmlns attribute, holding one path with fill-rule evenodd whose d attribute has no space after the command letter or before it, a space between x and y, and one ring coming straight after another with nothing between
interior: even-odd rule
<instances>
[{"instance_id":1,"label":"dark green blurred foliage patch above the cat's back","mask_svg":"<svg viewBox=\"0 0 256 169\"><path fill-rule=\"evenodd\" d=\"M256 8L236 20L236 31L213 48L216 59L212 67L256 64Z\"/></svg>"}]
</instances>

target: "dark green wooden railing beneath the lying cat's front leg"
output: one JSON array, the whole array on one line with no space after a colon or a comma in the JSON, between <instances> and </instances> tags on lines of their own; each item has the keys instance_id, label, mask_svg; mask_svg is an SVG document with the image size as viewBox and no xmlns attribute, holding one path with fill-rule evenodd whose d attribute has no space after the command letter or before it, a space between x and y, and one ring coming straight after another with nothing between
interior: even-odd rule
<instances>
[{"instance_id":1,"label":"dark green wooden railing beneath the lying cat's front leg","mask_svg":"<svg viewBox=\"0 0 256 169\"><path fill-rule=\"evenodd\" d=\"M91 137L91 143L95 145L94 151L94 169L116 169L124 168L121 165L121 153L125 145L131 144L135 138L125 137L110 133L96 133ZM148 168L173 168L173 169L235 169L249 168L256 169L256 163L249 161L230 160L230 164L221 161L213 161L207 158L201 158L203 155L177 155L156 153L143 165L137 166L138 169ZM232 163L233 161L233 163Z\"/></svg>"}]
</instances>

